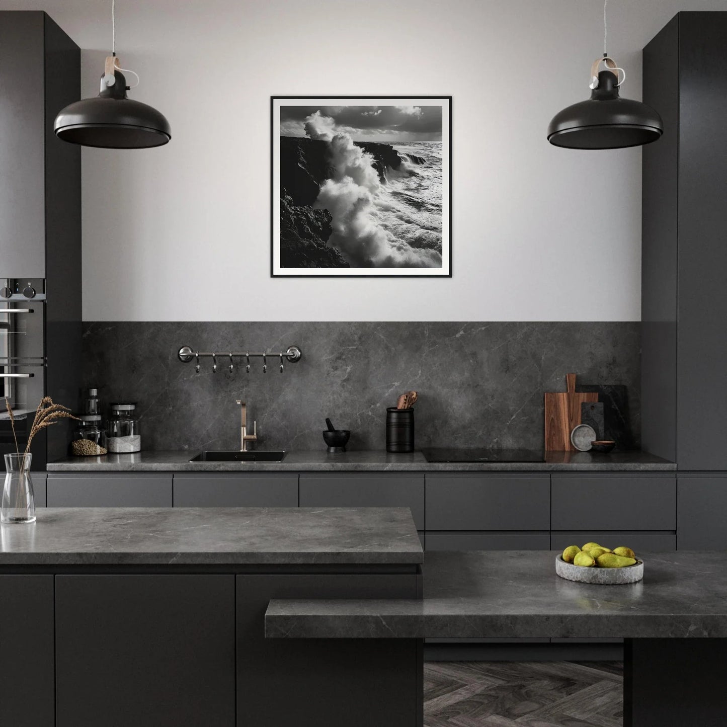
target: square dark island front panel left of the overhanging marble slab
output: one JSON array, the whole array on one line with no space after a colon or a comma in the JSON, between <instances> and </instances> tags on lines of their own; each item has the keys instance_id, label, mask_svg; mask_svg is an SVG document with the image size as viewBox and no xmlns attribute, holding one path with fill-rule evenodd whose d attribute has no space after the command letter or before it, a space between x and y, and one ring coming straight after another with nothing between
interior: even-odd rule
<instances>
[{"instance_id":1,"label":"square dark island front panel left of the overhanging marble slab","mask_svg":"<svg viewBox=\"0 0 727 727\"><path fill-rule=\"evenodd\" d=\"M56 577L57 727L234 727L235 577Z\"/></svg>"}]
</instances>

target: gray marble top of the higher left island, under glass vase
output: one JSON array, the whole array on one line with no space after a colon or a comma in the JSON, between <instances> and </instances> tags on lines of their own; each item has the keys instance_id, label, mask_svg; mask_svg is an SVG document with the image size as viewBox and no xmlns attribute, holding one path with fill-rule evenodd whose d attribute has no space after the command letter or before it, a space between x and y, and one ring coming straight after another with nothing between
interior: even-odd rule
<instances>
[{"instance_id":1,"label":"gray marble top of the higher left island, under glass vase","mask_svg":"<svg viewBox=\"0 0 727 727\"><path fill-rule=\"evenodd\" d=\"M48 507L0 527L2 566L422 563L406 507Z\"/></svg>"}]
</instances>

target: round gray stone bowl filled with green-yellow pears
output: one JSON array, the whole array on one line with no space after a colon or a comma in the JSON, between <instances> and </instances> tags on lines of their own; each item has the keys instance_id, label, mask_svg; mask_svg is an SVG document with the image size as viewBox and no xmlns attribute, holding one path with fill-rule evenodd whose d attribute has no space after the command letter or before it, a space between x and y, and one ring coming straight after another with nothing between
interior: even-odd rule
<instances>
[{"instance_id":1,"label":"round gray stone bowl filled with green-yellow pears","mask_svg":"<svg viewBox=\"0 0 727 727\"><path fill-rule=\"evenodd\" d=\"M583 547L566 547L555 558L555 573L579 583L623 585L643 578L643 561L625 545L611 550L596 542L588 542Z\"/></svg>"}]
</instances>

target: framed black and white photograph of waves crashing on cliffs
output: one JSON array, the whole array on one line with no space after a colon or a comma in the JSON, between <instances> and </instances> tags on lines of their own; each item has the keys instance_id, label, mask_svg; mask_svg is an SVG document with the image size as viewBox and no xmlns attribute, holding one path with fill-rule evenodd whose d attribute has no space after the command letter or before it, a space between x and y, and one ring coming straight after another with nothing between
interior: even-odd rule
<instances>
[{"instance_id":1,"label":"framed black and white photograph of waves crashing on cliffs","mask_svg":"<svg viewBox=\"0 0 727 727\"><path fill-rule=\"evenodd\" d=\"M451 276L451 96L273 96L270 118L271 276Z\"/></svg>"}]
</instances>

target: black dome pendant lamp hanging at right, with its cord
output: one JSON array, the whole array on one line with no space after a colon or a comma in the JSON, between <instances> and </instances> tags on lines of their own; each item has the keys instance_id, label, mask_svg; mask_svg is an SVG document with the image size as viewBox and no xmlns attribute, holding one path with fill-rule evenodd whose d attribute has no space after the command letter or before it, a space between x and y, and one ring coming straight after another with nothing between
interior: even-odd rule
<instances>
[{"instance_id":1,"label":"black dome pendant lamp hanging at right, with its cord","mask_svg":"<svg viewBox=\"0 0 727 727\"><path fill-rule=\"evenodd\" d=\"M603 3L603 47L606 47L606 3ZM603 71L598 68L606 66ZM619 71L622 73L619 81ZM591 97L553 116L547 140L568 149L622 149L656 141L664 132L662 117L651 106L622 98L626 72L608 54L591 67Z\"/></svg>"}]
</instances>

